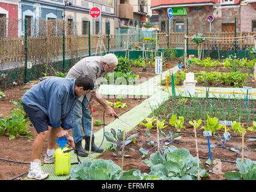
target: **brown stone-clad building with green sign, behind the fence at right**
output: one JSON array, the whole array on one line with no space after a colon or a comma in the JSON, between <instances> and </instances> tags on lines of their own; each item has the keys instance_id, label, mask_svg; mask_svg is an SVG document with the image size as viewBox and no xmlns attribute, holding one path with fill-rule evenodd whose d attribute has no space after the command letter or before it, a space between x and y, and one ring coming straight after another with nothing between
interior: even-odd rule
<instances>
[{"instance_id":1,"label":"brown stone-clad building with green sign, behind the fence at right","mask_svg":"<svg viewBox=\"0 0 256 192\"><path fill-rule=\"evenodd\" d=\"M172 8L169 19L167 10ZM151 9L159 15L159 29L169 32L234 32L240 31L239 0L151 0ZM213 20L209 20L213 16ZM188 22L188 23L187 23Z\"/></svg>"}]
</instances>

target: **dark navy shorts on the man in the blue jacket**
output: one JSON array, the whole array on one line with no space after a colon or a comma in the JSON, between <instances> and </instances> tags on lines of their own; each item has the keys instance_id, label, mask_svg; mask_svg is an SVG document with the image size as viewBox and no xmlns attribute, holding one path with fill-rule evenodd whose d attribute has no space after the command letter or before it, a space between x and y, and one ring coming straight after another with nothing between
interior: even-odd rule
<instances>
[{"instance_id":1,"label":"dark navy shorts on the man in the blue jacket","mask_svg":"<svg viewBox=\"0 0 256 192\"><path fill-rule=\"evenodd\" d=\"M29 121L32 122L35 130L37 130L37 133L48 131L49 118L46 113L37 107L28 107L23 103L22 106L26 112L26 115L28 115Z\"/></svg>"}]
</instances>

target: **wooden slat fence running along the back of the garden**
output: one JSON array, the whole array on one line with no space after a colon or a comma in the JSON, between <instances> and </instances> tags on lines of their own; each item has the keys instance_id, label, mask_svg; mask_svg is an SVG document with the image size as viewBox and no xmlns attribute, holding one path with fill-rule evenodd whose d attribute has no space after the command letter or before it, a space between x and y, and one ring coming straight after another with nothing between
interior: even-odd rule
<instances>
[{"instance_id":1,"label":"wooden slat fence running along the back of the garden","mask_svg":"<svg viewBox=\"0 0 256 192\"><path fill-rule=\"evenodd\" d=\"M189 33L189 37L192 37L196 33ZM159 33L158 46L159 49L166 49L169 47L172 49L184 49L184 32L170 32ZM210 49L228 49L233 47L234 49L234 33L222 32L222 33L206 33L204 34L206 41L203 43L203 47L206 50ZM256 32L239 32L237 33L237 47L249 47L255 46ZM254 36L254 37L253 37ZM241 38L248 37L248 38ZM28 38L28 61L40 60L44 61L47 58L62 56L62 36L52 37L29 37ZM95 51L97 47L99 36L91 35L91 51ZM130 41L135 42L138 37L136 35L130 36ZM109 48L120 49L126 48L125 42L127 41L127 34L111 34L109 35ZM103 35L103 42L106 50L108 50L108 36ZM196 44L188 38L188 49L196 49ZM70 35L65 37L65 55L74 55L77 53L88 52L88 35ZM99 48L98 48L99 49ZM102 47L102 52L104 52ZM0 64L9 62L23 62L25 61L25 39L20 38L0 38Z\"/></svg>"}]
</instances>

